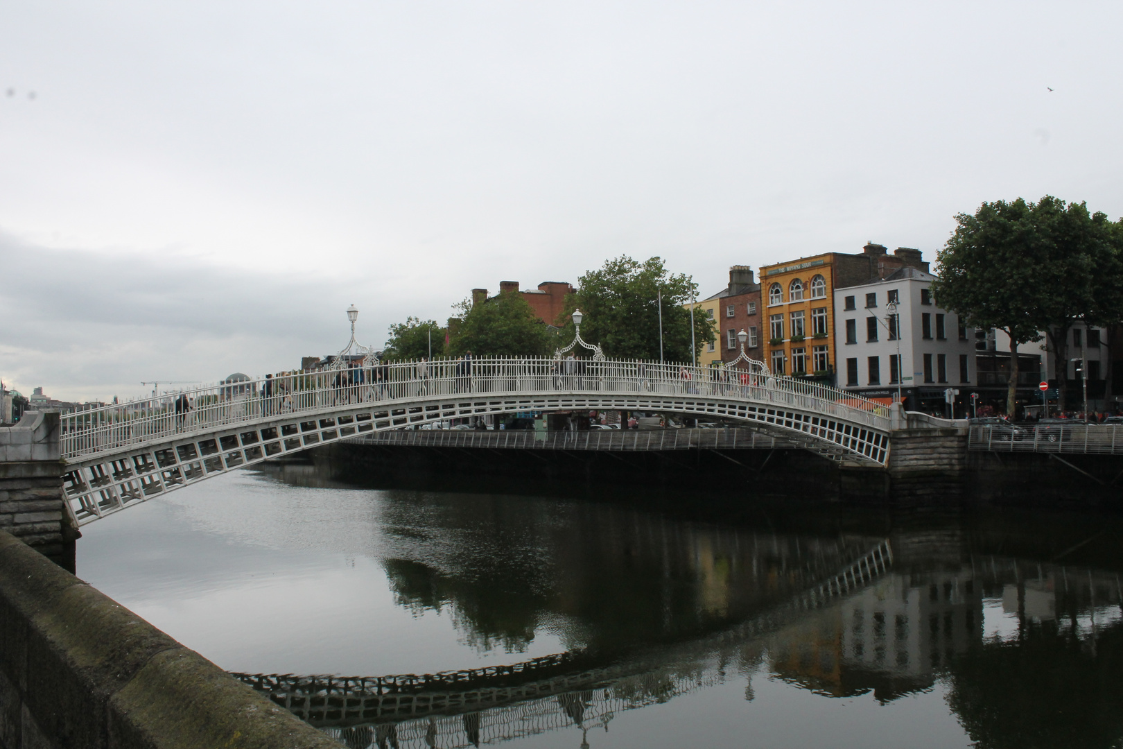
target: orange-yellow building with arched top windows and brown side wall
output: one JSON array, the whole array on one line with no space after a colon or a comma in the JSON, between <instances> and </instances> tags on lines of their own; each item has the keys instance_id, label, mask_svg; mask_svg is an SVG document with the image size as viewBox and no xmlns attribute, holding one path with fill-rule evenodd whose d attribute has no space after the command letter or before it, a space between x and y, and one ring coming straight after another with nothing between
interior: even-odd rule
<instances>
[{"instance_id":1,"label":"orange-yellow building with arched top windows and brown side wall","mask_svg":"<svg viewBox=\"0 0 1123 749\"><path fill-rule=\"evenodd\" d=\"M916 265L920 252L868 243L860 255L824 253L760 266L765 363L775 374L814 376L836 384L834 291L884 278Z\"/></svg>"}]
</instances>

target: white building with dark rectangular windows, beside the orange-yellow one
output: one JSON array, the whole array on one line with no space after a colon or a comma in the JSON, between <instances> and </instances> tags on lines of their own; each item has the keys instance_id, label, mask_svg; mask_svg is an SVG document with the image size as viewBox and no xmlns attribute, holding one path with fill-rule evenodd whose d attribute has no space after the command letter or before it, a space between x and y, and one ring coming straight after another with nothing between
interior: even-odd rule
<instances>
[{"instance_id":1,"label":"white building with dark rectangular windows, beside the orange-yellow one","mask_svg":"<svg viewBox=\"0 0 1123 749\"><path fill-rule=\"evenodd\" d=\"M874 394L901 387L946 389L976 382L975 336L937 304L929 291L935 276L905 267L884 281L834 291L834 344L839 387ZM887 305L896 300L900 336Z\"/></svg>"}]
</instances>

